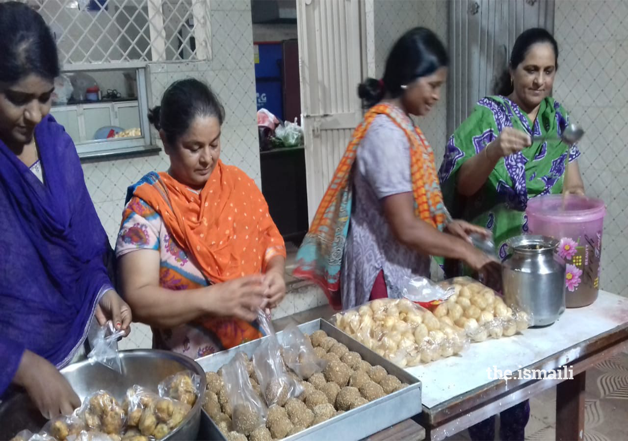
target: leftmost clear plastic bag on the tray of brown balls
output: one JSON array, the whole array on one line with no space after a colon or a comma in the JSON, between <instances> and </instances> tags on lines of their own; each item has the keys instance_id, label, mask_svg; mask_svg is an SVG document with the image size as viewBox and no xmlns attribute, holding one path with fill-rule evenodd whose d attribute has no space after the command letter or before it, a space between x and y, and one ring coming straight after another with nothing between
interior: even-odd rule
<instances>
[{"instance_id":1,"label":"leftmost clear plastic bag on the tray of brown balls","mask_svg":"<svg viewBox=\"0 0 628 441\"><path fill-rule=\"evenodd\" d=\"M250 435L257 427L264 425L268 408L253 390L242 356L236 354L222 366L222 381L232 409L233 429Z\"/></svg>"}]
</instances>

